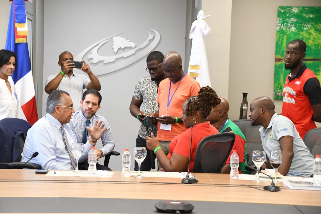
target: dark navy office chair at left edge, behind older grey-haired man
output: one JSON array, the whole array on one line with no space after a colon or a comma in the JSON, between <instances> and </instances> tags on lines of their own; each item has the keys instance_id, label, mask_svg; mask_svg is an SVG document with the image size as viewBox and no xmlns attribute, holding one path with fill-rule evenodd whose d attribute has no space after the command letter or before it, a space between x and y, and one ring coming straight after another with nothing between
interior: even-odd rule
<instances>
[{"instance_id":1,"label":"dark navy office chair at left edge, behind older grey-haired man","mask_svg":"<svg viewBox=\"0 0 321 214\"><path fill-rule=\"evenodd\" d=\"M10 163L0 165L0 168L41 169L41 166L35 163L19 166L24 141L30 128L30 123L22 119L4 118L0 120L0 162Z\"/></svg>"}]
</instances>

